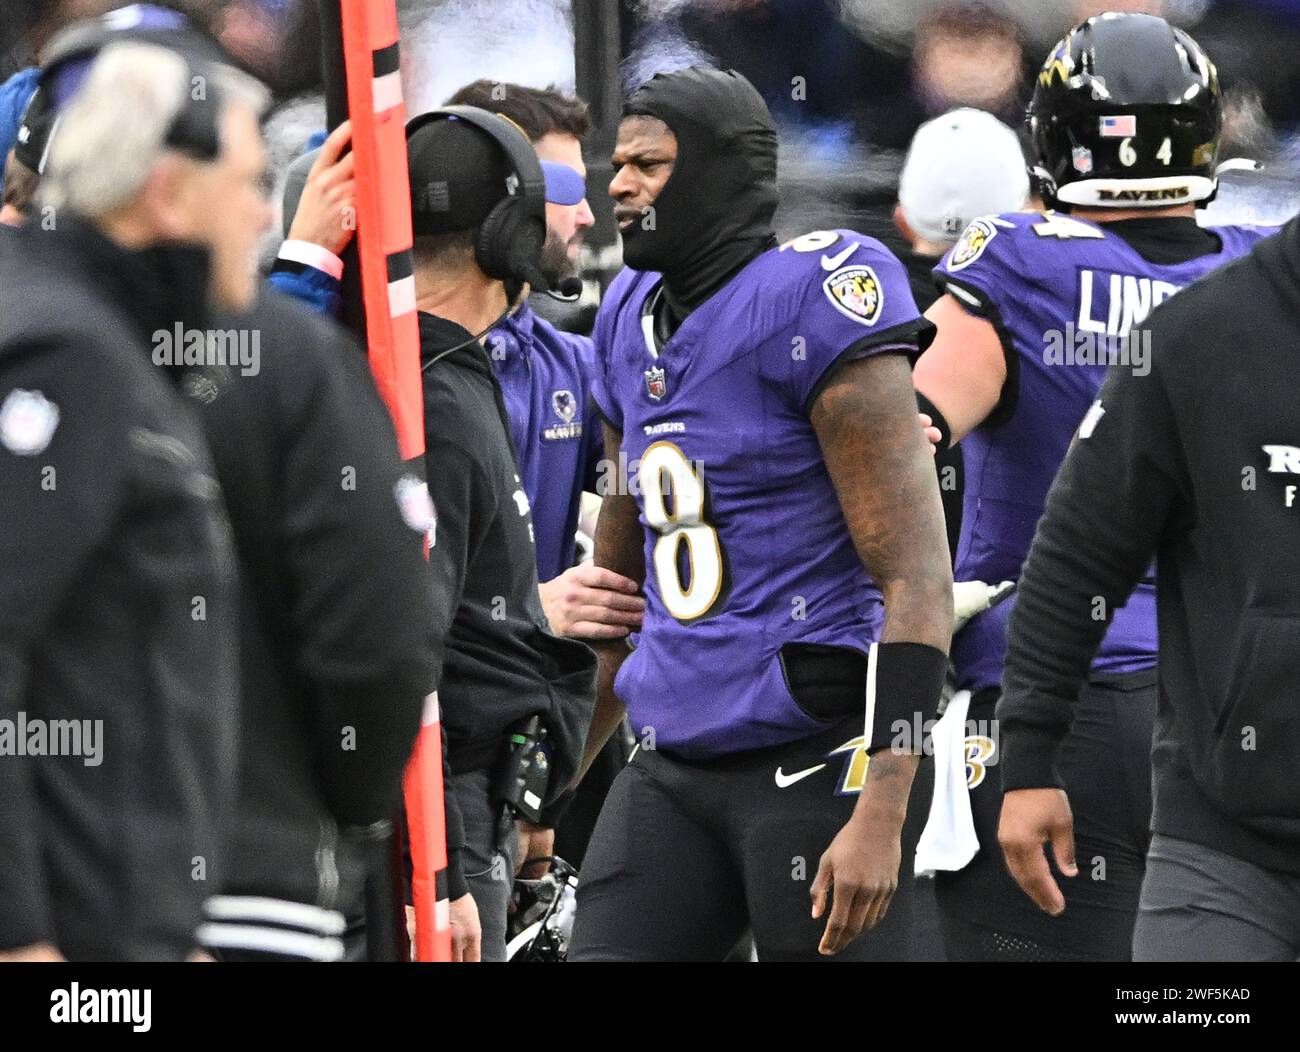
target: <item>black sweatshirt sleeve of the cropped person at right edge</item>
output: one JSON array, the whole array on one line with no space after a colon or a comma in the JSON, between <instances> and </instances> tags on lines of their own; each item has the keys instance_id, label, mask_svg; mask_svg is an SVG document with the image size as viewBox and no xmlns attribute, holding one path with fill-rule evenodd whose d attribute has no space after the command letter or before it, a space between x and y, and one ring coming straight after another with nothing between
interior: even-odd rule
<instances>
[{"instance_id":1,"label":"black sweatshirt sleeve of the cropped person at right edge","mask_svg":"<svg viewBox=\"0 0 1300 1052\"><path fill-rule=\"evenodd\" d=\"M1158 333L1153 326L1157 355ZM1056 745L1115 607L1190 502L1158 365L1153 355L1148 375L1112 369L1048 494L1008 628L997 706L1004 789L1054 784Z\"/></svg>"}]
</instances>

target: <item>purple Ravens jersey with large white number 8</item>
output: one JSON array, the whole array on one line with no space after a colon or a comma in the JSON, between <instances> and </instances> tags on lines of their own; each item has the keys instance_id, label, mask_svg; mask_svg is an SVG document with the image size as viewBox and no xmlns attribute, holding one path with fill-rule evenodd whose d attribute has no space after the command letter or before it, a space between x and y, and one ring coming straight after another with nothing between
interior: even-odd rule
<instances>
[{"instance_id":1,"label":"purple Ravens jersey with large white number 8","mask_svg":"<svg viewBox=\"0 0 1300 1052\"><path fill-rule=\"evenodd\" d=\"M849 230L767 250L662 347L659 290L624 270L594 332L593 398L645 529L645 622L615 690L638 735L684 758L796 741L827 724L790 696L781 646L864 653L883 619L811 404L837 365L915 352L928 322L902 265Z\"/></svg>"}]
</instances>

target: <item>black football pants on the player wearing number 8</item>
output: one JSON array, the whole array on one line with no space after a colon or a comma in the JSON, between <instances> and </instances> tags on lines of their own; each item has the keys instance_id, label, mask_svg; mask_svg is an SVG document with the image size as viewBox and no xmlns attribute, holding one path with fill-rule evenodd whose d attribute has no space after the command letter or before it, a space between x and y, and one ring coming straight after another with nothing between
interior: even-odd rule
<instances>
[{"instance_id":1,"label":"black football pants on the player wearing number 8","mask_svg":"<svg viewBox=\"0 0 1300 1052\"><path fill-rule=\"evenodd\" d=\"M571 961L720 961L746 930L760 961L904 961L913 858L933 772L923 759L904 827L898 891L835 957L811 917L822 853L862 784L861 715L786 745L689 763L638 749L615 779L578 880Z\"/></svg>"}]
</instances>

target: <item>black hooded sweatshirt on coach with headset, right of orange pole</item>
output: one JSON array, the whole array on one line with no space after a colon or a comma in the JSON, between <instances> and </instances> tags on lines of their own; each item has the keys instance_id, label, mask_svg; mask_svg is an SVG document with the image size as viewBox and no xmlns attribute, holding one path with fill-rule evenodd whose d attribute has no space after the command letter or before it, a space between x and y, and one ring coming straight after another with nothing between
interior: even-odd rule
<instances>
[{"instance_id":1,"label":"black hooded sweatshirt on coach with headset, right of orange pole","mask_svg":"<svg viewBox=\"0 0 1300 1052\"><path fill-rule=\"evenodd\" d=\"M554 636L537 592L537 555L510 420L488 352L464 328L420 315L425 471L438 516L429 566L455 610L438 685L454 774L493 770L507 731L542 717L549 805L577 774L595 704L595 654ZM446 795L456 897L462 821Z\"/></svg>"}]
</instances>

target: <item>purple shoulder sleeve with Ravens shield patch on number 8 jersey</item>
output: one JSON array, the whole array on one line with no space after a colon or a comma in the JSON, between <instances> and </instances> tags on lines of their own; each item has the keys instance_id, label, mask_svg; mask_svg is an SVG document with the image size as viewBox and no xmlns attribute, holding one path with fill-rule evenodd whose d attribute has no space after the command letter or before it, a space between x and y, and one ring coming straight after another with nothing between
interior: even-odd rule
<instances>
[{"instance_id":1,"label":"purple shoulder sleeve with Ravens shield patch on number 8 jersey","mask_svg":"<svg viewBox=\"0 0 1300 1052\"><path fill-rule=\"evenodd\" d=\"M915 356L933 333L902 264L872 238L840 233L824 251L792 254L803 270L792 317L764 348L768 378L805 411L845 363L885 351Z\"/></svg>"}]
</instances>

